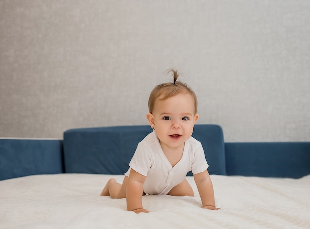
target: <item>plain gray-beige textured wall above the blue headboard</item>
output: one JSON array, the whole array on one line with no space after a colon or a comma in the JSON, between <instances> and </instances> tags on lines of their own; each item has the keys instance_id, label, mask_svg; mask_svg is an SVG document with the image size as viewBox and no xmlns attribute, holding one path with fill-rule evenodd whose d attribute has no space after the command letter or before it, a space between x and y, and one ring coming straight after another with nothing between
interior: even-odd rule
<instances>
[{"instance_id":1,"label":"plain gray-beige textured wall above the blue headboard","mask_svg":"<svg viewBox=\"0 0 310 229\"><path fill-rule=\"evenodd\" d=\"M147 124L174 67L226 141L310 140L308 0L0 0L0 137Z\"/></svg>"}]
</instances>

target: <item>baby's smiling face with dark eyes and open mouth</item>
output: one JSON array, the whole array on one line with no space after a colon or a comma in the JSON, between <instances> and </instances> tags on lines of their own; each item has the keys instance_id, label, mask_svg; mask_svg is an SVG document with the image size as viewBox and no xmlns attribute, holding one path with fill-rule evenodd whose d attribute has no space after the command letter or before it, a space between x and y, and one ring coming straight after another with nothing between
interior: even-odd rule
<instances>
[{"instance_id":1,"label":"baby's smiling face with dark eyes and open mouth","mask_svg":"<svg viewBox=\"0 0 310 229\"><path fill-rule=\"evenodd\" d=\"M161 147L183 149L184 142L193 133L198 119L194 99L189 94L179 94L165 100L158 98L153 109L154 125Z\"/></svg>"}]
</instances>

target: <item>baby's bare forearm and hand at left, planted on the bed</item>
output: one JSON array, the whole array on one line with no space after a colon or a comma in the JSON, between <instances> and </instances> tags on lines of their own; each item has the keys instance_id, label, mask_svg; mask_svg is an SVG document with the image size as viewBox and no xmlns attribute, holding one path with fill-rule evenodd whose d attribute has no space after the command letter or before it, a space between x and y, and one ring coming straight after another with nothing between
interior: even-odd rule
<instances>
[{"instance_id":1,"label":"baby's bare forearm and hand at left, planted on the bed","mask_svg":"<svg viewBox=\"0 0 310 229\"><path fill-rule=\"evenodd\" d=\"M141 175L132 168L126 187L127 210L135 213L148 212L142 207L143 183L146 176Z\"/></svg>"}]
</instances>

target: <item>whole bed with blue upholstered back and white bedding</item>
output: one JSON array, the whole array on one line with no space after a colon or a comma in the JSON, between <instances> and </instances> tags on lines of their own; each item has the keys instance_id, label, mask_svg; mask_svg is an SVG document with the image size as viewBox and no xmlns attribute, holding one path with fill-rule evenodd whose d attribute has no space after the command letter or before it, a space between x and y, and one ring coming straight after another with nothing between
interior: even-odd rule
<instances>
[{"instance_id":1,"label":"whole bed with blue upholstered back and white bedding","mask_svg":"<svg viewBox=\"0 0 310 229\"><path fill-rule=\"evenodd\" d=\"M226 144L214 125L197 126L194 135L206 151L221 210L201 207L191 174L194 197L143 196L150 213L129 212L125 199L100 196L109 178L122 182L132 156L127 150L145 131L74 129L63 141L48 141L46 150L41 140L0 140L0 229L310 228L310 143Z\"/></svg>"}]
</instances>

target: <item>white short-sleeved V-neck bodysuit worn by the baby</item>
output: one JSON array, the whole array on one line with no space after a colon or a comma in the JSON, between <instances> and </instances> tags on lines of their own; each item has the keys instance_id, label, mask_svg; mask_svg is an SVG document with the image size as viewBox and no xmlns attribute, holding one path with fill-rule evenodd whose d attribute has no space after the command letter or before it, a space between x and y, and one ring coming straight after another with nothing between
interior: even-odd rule
<instances>
[{"instance_id":1,"label":"white short-sleeved V-neck bodysuit worn by the baby","mask_svg":"<svg viewBox=\"0 0 310 229\"><path fill-rule=\"evenodd\" d=\"M187 172L197 174L209 167L201 143L193 137L185 142L181 160L172 167L162 151L155 130L138 144L129 166L146 176L143 191L151 195L168 194L185 179ZM128 177L130 168L125 173Z\"/></svg>"}]
</instances>

